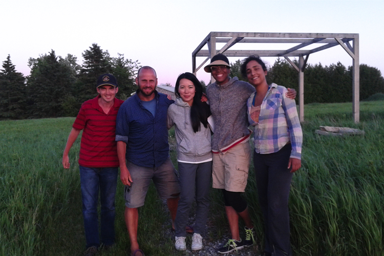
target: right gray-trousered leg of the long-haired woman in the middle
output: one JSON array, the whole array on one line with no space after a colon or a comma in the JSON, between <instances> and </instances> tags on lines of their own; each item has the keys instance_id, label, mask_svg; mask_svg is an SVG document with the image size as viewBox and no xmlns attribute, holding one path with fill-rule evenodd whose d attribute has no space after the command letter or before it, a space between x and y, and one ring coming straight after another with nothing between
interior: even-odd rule
<instances>
[{"instance_id":1,"label":"right gray-trousered leg of the long-haired woman in the middle","mask_svg":"<svg viewBox=\"0 0 384 256\"><path fill-rule=\"evenodd\" d=\"M209 211L209 187L212 161L198 164L196 172L196 224L195 233L203 235Z\"/></svg>"}]
</instances>

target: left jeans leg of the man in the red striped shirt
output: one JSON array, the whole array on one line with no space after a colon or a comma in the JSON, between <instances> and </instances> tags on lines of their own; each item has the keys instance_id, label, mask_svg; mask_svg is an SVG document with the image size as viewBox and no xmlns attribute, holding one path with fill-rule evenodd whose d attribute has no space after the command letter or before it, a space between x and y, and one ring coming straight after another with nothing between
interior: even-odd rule
<instances>
[{"instance_id":1,"label":"left jeans leg of the man in the red striped shirt","mask_svg":"<svg viewBox=\"0 0 384 256\"><path fill-rule=\"evenodd\" d=\"M82 215L86 233L87 248L99 247L99 218L97 203L99 196L99 176L97 168L79 167L82 196Z\"/></svg>"}]
</instances>

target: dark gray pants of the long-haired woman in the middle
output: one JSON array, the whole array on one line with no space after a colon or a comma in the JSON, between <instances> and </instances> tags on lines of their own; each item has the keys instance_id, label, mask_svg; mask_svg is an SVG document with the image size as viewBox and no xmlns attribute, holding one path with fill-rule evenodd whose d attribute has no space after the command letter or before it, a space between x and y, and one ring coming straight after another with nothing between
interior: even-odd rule
<instances>
[{"instance_id":1,"label":"dark gray pants of the long-haired woman in the middle","mask_svg":"<svg viewBox=\"0 0 384 256\"><path fill-rule=\"evenodd\" d=\"M179 162L180 201L175 220L176 237L185 237L189 211L196 195L195 233L203 234L208 217L209 187L212 161L205 163Z\"/></svg>"}]
</instances>

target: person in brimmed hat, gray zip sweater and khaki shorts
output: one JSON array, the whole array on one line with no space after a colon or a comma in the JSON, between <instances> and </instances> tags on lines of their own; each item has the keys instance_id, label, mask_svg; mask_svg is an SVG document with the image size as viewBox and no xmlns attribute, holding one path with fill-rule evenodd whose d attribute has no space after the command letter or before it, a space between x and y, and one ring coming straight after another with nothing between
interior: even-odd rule
<instances>
[{"instance_id":1,"label":"person in brimmed hat, gray zip sweater and khaki shorts","mask_svg":"<svg viewBox=\"0 0 384 256\"><path fill-rule=\"evenodd\" d=\"M212 57L204 70L216 80L207 87L215 122L212 186L223 191L231 238L219 248L219 253L226 254L244 246L252 246L256 239L247 202L241 195L247 185L251 158L246 102L255 89L248 82L230 77L229 61L224 54ZM296 91L292 90L287 97L292 95L294 98ZM239 217L245 224L244 240L240 237Z\"/></svg>"}]
</instances>

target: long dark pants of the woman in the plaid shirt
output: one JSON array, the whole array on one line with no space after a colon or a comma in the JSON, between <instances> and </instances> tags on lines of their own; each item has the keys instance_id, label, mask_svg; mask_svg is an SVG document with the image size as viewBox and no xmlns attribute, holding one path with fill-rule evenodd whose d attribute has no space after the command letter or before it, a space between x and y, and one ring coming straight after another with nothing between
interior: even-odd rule
<instances>
[{"instance_id":1,"label":"long dark pants of the woman in the plaid shirt","mask_svg":"<svg viewBox=\"0 0 384 256\"><path fill-rule=\"evenodd\" d=\"M288 198L292 173L287 168L291 144L271 154L253 152L259 203L265 222L265 252L291 255Z\"/></svg>"}]
</instances>

